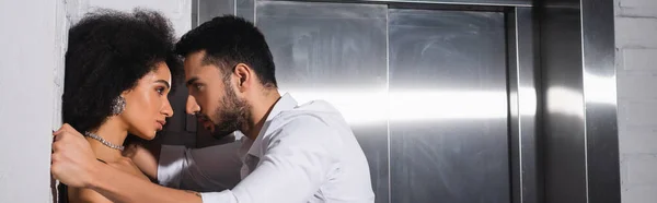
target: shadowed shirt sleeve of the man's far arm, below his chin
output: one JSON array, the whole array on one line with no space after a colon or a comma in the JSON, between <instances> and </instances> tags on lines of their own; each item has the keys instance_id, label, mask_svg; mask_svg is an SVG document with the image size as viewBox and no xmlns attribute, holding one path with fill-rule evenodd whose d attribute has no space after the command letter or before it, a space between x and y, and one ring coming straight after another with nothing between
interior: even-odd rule
<instances>
[{"instance_id":1,"label":"shadowed shirt sleeve of the man's far arm, below his chin","mask_svg":"<svg viewBox=\"0 0 657 203\"><path fill-rule=\"evenodd\" d=\"M158 165L162 186L198 192L232 189L240 181L240 142L205 148L163 145Z\"/></svg>"}]
</instances>

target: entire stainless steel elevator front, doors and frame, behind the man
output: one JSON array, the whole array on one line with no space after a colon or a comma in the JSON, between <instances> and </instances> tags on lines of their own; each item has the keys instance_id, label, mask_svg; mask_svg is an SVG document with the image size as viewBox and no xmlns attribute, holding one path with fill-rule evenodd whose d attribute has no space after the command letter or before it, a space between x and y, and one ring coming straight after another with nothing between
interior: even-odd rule
<instances>
[{"instance_id":1,"label":"entire stainless steel elevator front, doors and frame, behind the man","mask_svg":"<svg viewBox=\"0 0 657 203\"><path fill-rule=\"evenodd\" d=\"M281 92L344 114L378 203L619 202L611 3L197 1L257 24Z\"/></svg>"}]
</instances>

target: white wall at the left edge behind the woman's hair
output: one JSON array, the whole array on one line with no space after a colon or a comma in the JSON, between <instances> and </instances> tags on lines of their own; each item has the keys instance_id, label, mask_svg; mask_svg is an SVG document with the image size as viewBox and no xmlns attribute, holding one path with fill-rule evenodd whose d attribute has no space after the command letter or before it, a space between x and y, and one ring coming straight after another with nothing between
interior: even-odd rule
<instances>
[{"instance_id":1,"label":"white wall at the left edge behind the woman's hair","mask_svg":"<svg viewBox=\"0 0 657 203\"><path fill-rule=\"evenodd\" d=\"M62 68L62 4L0 1L0 202L51 200L53 89L54 72Z\"/></svg>"}]
</instances>

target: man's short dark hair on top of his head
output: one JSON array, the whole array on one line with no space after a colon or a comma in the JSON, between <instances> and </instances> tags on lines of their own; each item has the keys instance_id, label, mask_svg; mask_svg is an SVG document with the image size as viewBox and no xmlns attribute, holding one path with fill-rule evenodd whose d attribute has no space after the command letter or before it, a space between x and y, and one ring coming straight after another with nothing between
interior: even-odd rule
<instances>
[{"instance_id":1,"label":"man's short dark hair on top of his head","mask_svg":"<svg viewBox=\"0 0 657 203\"><path fill-rule=\"evenodd\" d=\"M206 51L204 64L215 64L228 75L238 63L254 70L265 87L277 87L276 67L265 36L253 23L234 15L212 19L183 35L175 46L176 53L186 57Z\"/></svg>"}]
</instances>

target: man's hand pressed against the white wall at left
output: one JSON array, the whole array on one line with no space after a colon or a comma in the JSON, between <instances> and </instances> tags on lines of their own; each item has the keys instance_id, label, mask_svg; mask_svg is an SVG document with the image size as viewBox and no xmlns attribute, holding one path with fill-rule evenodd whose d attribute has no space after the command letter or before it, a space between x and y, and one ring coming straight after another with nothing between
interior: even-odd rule
<instances>
[{"instance_id":1,"label":"man's hand pressed against the white wall at left","mask_svg":"<svg viewBox=\"0 0 657 203\"><path fill-rule=\"evenodd\" d=\"M50 172L55 179L76 188L88 188L100 162L80 132L68 123L53 133Z\"/></svg>"}]
</instances>

